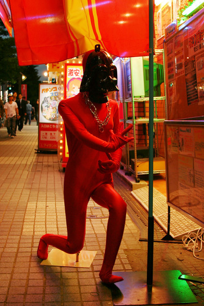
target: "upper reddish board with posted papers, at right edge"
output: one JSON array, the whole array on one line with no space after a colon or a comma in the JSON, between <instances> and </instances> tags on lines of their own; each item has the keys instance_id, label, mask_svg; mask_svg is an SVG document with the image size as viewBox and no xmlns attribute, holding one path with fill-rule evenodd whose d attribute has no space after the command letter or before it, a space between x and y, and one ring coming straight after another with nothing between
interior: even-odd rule
<instances>
[{"instance_id":1,"label":"upper reddish board with posted papers, at right edge","mask_svg":"<svg viewBox=\"0 0 204 306\"><path fill-rule=\"evenodd\" d=\"M167 119L204 114L204 18L196 14L164 42Z\"/></svg>"}]
</instances>

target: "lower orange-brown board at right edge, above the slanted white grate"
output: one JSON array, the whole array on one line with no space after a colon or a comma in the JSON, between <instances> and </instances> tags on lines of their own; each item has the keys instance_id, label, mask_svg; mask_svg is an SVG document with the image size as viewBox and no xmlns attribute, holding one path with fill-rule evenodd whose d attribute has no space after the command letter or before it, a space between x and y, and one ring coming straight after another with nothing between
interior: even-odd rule
<instances>
[{"instance_id":1,"label":"lower orange-brown board at right edge, above the slanted white grate","mask_svg":"<svg viewBox=\"0 0 204 306\"><path fill-rule=\"evenodd\" d=\"M204 121L164 121L167 201L204 225Z\"/></svg>"}]
</instances>

